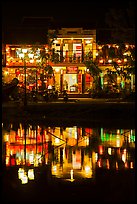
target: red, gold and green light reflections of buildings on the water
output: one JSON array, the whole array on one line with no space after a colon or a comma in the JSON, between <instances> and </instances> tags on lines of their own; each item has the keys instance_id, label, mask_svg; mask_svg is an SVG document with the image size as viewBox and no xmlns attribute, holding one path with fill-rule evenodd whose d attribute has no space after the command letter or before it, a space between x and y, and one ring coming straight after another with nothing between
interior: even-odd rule
<instances>
[{"instance_id":1,"label":"red, gold and green light reflections of buildings on the water","mask_svg":"<svg viewBox=\"0 0 137 204\"><path fill-rule=\"evenodd\" d=\"M95 179L97 169L135 166L135 129L46 127L2 123L3 164L18 168L22 184L45 166L51 178Z\"/></svg>"}]
</instances>

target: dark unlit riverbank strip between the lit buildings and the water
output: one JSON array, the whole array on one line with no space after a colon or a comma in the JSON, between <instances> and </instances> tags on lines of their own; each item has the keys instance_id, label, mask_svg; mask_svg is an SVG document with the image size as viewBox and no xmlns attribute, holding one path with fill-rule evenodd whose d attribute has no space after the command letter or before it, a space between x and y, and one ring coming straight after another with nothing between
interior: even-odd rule
<instances>
[{"instance_id":1,"label":"dark unlit riverbank strip between the lit buildings and the water","mask_svg":"<svg viewBox=\"0 0 137 204\"><path fill-rule=\"evenodd\" d=\"M86 125L135 127L135 102L107 99L70 99L56 102L2 105L2 119L47 123L49 125Z\"/></svg>"}]
</instances>

